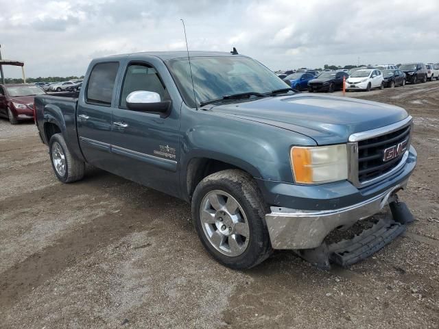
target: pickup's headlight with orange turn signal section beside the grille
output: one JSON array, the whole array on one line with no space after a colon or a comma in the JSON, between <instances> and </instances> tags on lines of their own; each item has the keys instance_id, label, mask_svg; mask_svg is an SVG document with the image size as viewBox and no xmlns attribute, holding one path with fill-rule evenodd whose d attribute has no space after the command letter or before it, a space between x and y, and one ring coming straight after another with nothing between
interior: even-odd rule
<instances>
[{"instance_id":1,"label":"pickup's headlight with orange turn signal section beside the grille","mask_svg":"<svg viewBox=\"0 0 439 329\"><path fill-rule=\"evenodd\" d=\"M299 184L337 182L348 178L346 144L292 147L290 151L294 181Z\"/></svg>"}]
</instances>

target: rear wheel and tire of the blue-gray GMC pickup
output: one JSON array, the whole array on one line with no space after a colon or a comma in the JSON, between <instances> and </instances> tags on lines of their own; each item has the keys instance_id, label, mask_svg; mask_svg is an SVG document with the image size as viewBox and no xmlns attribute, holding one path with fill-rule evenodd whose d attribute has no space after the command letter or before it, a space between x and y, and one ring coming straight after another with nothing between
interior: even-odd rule
<instances>
[{"instance_id":1,"label":"rear wheel and tire of the blue-gray GMC pickup","mask_svg":"<svg viewBox=\"0 0 439 329\"><path fill-rule=\"evenodd\" d=\"M61 134L51 136L49 154L52 168L60 182L76 182L84 177L85 163L72 156Z\"/></svg>"}]
</instances>

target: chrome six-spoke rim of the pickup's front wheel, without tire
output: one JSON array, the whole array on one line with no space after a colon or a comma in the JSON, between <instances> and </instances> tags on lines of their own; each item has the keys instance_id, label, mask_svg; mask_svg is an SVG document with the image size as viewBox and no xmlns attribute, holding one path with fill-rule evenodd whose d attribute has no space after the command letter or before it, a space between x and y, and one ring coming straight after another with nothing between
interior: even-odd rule
<instances>
[{"instance_id":1,"label":"chrome six-spoke rim of the pickup's front wheel, without tire","mask_svg":"<svg viewBox=\"0 0 439 329\"><path fill-rule=\"evenodd\" d=\"M211 191L200 205L204 234L219 252L239 256L246 251L250 228L246 214L236 199L224 191Z\"/></svg>"}]
</instances>

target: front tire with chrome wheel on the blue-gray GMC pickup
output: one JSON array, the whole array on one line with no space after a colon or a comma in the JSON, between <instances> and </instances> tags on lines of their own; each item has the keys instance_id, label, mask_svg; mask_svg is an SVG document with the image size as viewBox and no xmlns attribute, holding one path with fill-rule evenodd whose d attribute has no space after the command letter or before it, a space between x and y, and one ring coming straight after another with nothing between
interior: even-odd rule
<instances>
[{"instance_id":1,"label":"front tire with chrome wheel on the blue-gray GMC pickup","mask_svg":"<svg viewBox=\"0 0 439 329\"><path fill-rule=\"evenodd\" d=\"M252 176L237 169L207 176L193 193L193 223L202 244L232 269L254 267L272 253L264 220L269 211Z\"/></svg>"}]
</instances>

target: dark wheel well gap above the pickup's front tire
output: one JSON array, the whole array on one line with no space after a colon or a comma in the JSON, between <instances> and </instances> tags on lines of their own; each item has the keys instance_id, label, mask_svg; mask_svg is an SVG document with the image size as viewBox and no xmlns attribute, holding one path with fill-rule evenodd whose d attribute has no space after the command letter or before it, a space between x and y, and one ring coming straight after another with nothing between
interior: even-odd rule
<instances>
[{"instance_id":1,"label":"dark wheel well gap above the pickup's front tire","mask_svg":"<svg viewBox=\"0 0 439 329\"><path fill-rule=\"evenodd\" d=\"M197 187L198 183L200 183L204 178L211 175L212 173L217 173L218 171L226 169L241 168L227 162L222 162L209 158L192 159L187 167L186 175L187 195L189 197L189 200L191 200L193 191L195 191L195 187Z\"/></svg>"}]
</instances>

